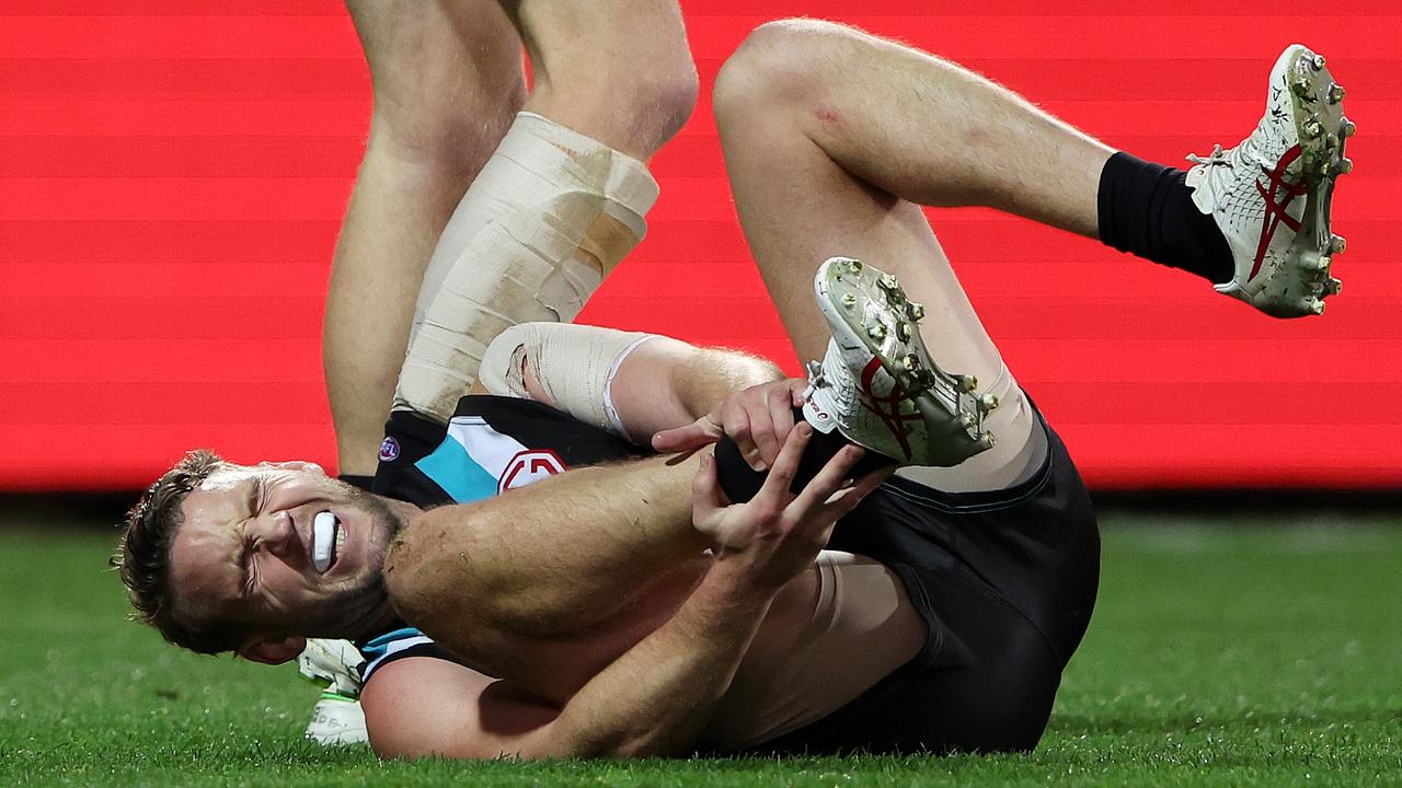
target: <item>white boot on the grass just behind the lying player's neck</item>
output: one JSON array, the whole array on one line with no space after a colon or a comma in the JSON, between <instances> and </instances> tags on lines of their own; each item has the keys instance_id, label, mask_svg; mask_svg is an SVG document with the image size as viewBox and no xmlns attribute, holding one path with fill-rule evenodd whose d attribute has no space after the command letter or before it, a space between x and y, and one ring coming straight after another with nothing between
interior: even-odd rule
<instances>
[{"instance_id":1,"label":"white boot on the grass just behind the lying player's neck","mask_svg":"<svg viewBox=\"0 0 1402 788\"><path fill-rule=\"evenodd\" d=\"M297 672L324 690L311 708L306 738L327 746L370 740L359 700L363 659L348 641L307 639L307 648L297 656Z\"/></svg>"}]
</instances>

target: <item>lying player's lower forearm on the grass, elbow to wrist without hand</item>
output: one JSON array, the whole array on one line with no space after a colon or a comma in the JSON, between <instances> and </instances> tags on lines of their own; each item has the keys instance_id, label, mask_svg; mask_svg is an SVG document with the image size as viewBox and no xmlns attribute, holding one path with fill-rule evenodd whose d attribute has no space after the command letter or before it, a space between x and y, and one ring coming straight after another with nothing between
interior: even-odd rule
<instances>
[{"instance_id":1,"label":"lying player's lower forearm on the grass, elbow to wrist without hand","mask_svg":"<svg viewBox=\"0 0 1402 788\"><path fill-rule=\"evenodd\" d=\"M774 589L718 559L670 621L585 684L550 729L545 753L644 757L691 747L770 609Z\"/></svg>"}]
</instances>

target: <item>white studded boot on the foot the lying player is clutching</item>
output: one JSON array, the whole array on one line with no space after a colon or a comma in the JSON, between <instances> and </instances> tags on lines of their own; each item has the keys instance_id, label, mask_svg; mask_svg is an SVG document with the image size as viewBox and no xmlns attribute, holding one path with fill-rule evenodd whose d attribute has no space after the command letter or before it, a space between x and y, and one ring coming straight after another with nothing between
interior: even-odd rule
<instances>
[{"instance_id":1,"label":"white studded boot on the foot the lying player is clutching","mask_svg":"<svg viewBox=\"0 0 1402 788\"><path fill-rule=\"evenodd\" d=\"M903 466L958 466L993 447L983 418L997 397L973 394L972 374L935 366L920 338L925 310L894 276L834 257L813 289L833 328L823 363L809 365L803 415L815 429L837 429Z\"/></svg>"}]
</instances>

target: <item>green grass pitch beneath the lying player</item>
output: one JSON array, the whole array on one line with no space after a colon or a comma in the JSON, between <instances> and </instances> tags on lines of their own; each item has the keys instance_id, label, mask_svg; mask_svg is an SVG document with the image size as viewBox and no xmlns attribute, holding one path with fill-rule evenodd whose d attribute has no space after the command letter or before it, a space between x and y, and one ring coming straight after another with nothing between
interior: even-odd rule
<instances>
[{"instance_id":1,"label":"green grass pitch beneath the lying player","mask_svg":"<svg viewBox=\"0 0 1402 788\"><path fill-rule=\"evenodd\" d=\"M551 764L306 743L293 667L168 648L122 620L109 534L7 524L0 785L1402 784L1392 519L1102 524L1101 604L1032 754Z\"/></svg>"}]
</instances>

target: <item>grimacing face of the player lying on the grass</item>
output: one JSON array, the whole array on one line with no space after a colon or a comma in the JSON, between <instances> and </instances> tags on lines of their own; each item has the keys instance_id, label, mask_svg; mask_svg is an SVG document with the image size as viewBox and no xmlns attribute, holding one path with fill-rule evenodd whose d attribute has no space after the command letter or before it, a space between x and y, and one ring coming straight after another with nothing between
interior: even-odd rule
<instances>
[{"instance_id":1,"label":"grimacing face of the player lying on the grass","mask_svg":"<svg viewBox=\"0 0 1402 788\"><path fill-rule=\"evenodd\" d=\"M251 632L245 658L282 662L307 637L352 637L390 616L381 572L401 513L314 463L226 463L181 502L171 541L177 616ZM335 558L313 566L313 520L339 522Z\"/></svg>"}]
</instances>

